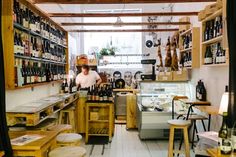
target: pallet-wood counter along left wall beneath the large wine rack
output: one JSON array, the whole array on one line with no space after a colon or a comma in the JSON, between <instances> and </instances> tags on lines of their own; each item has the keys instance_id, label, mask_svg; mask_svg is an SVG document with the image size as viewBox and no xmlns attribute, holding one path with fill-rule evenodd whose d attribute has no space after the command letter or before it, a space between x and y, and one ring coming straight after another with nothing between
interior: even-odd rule
<instances>
[{"instance_id":1,"label":"pallet-wood counter along left wall beneath the large wine rack","mask_svg":"<svg viewBox=\"0 0 236 157\"><path fill-rule=\"evenodd\" d=\"M14 126L16 124L36 126L50 115L72 104L77 98L77 93L57 94L16 106L15 108L7 110L7 124L8 126Z\"/></svg>"}]
</instances>

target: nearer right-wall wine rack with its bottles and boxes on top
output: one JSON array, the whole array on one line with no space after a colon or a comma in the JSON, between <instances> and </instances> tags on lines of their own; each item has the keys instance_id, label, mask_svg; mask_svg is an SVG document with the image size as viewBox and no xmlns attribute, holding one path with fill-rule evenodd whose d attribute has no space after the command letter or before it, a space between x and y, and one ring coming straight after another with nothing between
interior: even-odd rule
<instances>
[{"instance_id":1,"label":"nearer right-wall wine rack with its bottles and boxes on top","mask_svg":"<svg viewBox=\"0 0 236 157\"><path fill-rule=\"evenodd\" d=\"M216 3L217 7L219 4ZM201 65L202 66L228 66L229 54L226 29L226 3L221 2L223 8L205 16L202 19L201 38Z\"/></svg>"}]
</instances>

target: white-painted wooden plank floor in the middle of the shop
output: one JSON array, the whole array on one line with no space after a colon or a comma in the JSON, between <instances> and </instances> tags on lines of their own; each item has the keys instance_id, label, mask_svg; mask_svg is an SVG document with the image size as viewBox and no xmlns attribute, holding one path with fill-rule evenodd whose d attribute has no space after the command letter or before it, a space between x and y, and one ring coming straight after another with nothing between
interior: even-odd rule
<instances>
[{"instance_id":1,"label":"white-painted wooden plank floor in the middle of the shop","mask_svg":"<svg viewBox=\"0 0 236 157\"><path fill-rule=\"evenodd\" d=\"M82 146L87 150L87 157L167 157L167 140L140 140L137 130L126 130L125 125L115 126L115 135L109 145L105 145L102 155L102 145ZM92 150L92 154L90 152ZM183 157L184 155L180 155ZM191 157L194 157L191 151Z\"/></svg>"}]
</instances>

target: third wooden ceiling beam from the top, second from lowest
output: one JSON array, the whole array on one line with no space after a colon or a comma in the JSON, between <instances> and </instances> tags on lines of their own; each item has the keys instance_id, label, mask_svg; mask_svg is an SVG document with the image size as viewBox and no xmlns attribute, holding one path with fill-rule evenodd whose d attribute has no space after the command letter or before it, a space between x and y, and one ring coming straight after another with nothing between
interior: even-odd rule
<instances>
[{"instance_id":1,"label":"third wooden ceiling beam from the top, second from lowest","mask_svg":"<svg viewBox=\"0 0 236 157\"><path fill-rule=\"evenodd\" d=\"M61 23L62 26L142 26L142 25L188 25L190 22L123 22L123 23Z\"/></svg>"}]
</instances>

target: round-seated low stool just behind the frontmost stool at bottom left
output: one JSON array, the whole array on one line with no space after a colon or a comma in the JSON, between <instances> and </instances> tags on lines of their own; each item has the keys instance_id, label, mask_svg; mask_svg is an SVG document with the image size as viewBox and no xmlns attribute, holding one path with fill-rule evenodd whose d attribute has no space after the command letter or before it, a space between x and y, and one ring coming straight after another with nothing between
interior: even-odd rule
<instances>
[{"instance_id":1,"label":"round-seated low stool just behind the frontmost stool at bottom left","mask_svg":"<svg viewBox=\"0 0 236 157\"><path fill-rule=\"evenodd\" d=\"M76 133L61 133L56 137L58 146L79 146L82 136Z\"/></svg>"}]
</instances>

